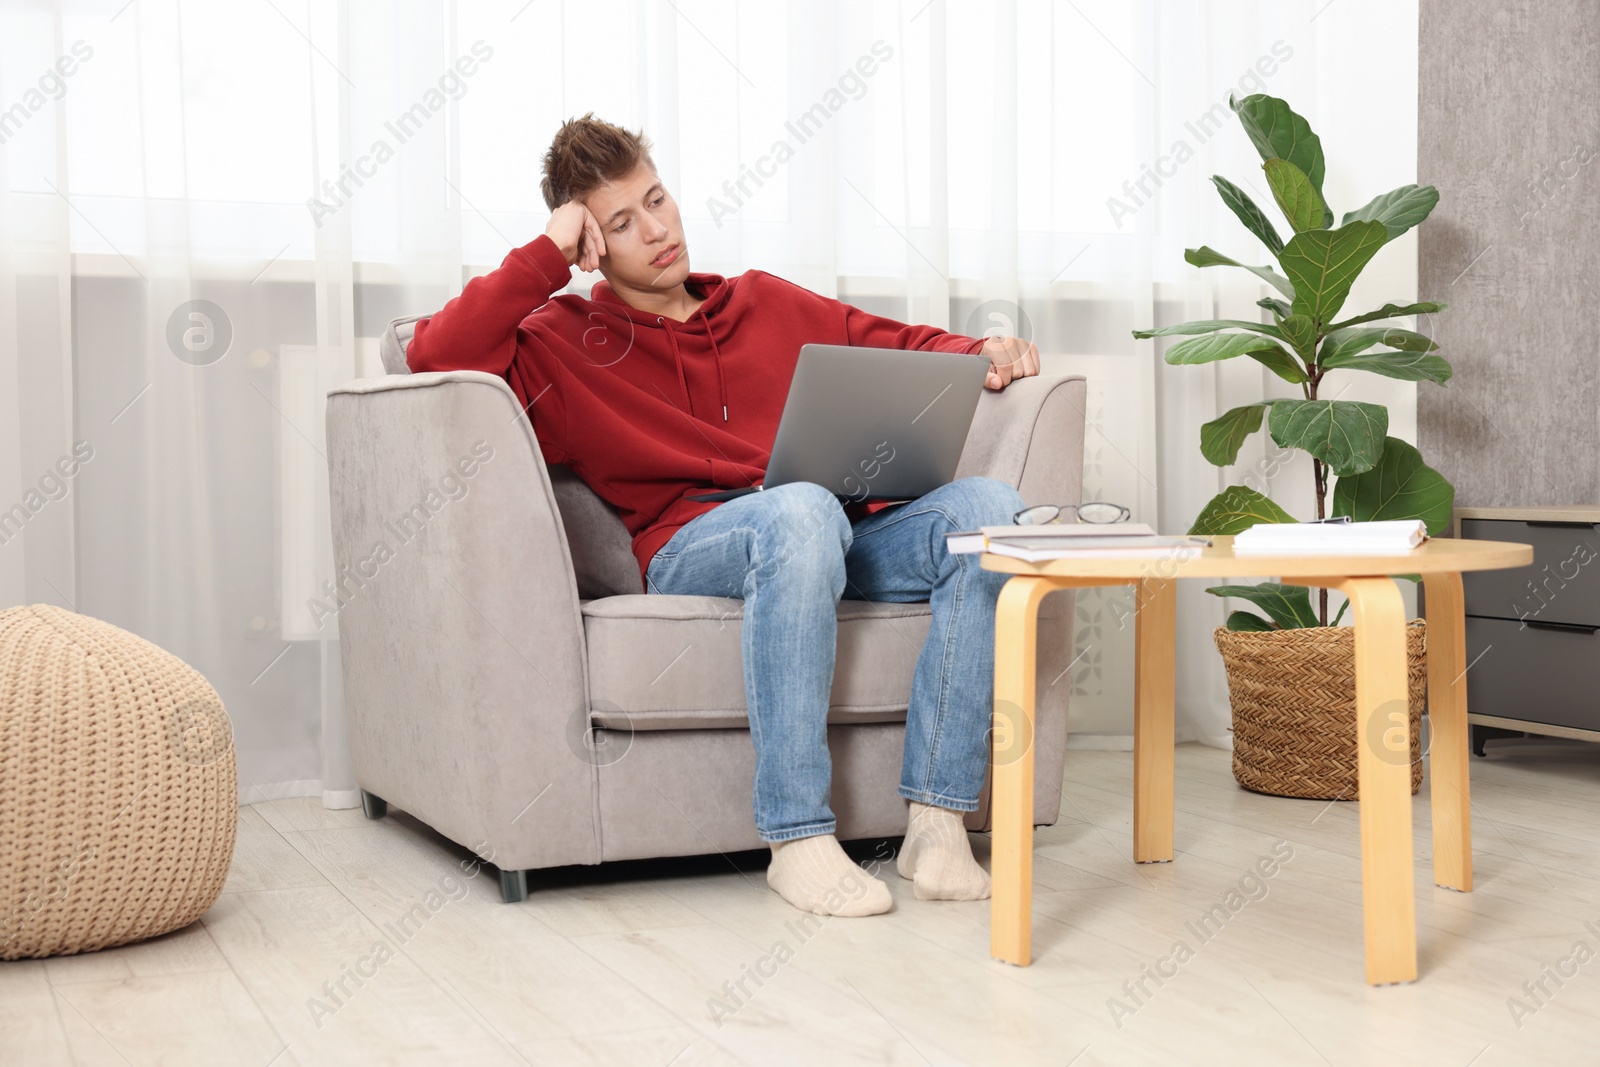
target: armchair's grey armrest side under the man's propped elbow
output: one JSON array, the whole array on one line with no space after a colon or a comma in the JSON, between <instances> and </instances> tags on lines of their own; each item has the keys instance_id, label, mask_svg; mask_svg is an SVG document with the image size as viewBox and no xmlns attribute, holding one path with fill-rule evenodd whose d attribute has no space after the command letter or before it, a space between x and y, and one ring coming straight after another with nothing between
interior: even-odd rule
<instances>
[{"instance_id":1,"label":"armchair's grey armrest side under the man's propped elbow","mask_svg":"<svg viewBox=\"0 0 1600 1067\"><path fill-rule=\"evenodd\" d=\"M515 395L390 374L326 419L357 781L502 869L598 862L578 589Z\"/></svg>"}]
</instances>

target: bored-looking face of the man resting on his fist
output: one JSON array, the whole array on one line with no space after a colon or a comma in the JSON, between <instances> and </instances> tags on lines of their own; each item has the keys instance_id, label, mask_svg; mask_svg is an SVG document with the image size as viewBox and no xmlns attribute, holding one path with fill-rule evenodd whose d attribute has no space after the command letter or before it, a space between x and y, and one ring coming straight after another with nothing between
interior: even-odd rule
<instances>
[{"instance_id":1,"label":"bored-looking face of the man resting on his fist","mask_svg":"<svg viewBox=\"0 0 1600 1067\"><path fill-rule=\"evenodd\" d=\"M600 186L584 197L584 206L605 237L600 272L608 282L670 290L688 277L690 250L678 205L651 166L640 163L627 178ZM661 262L662 254L670 262Z\"/></svg>"}]
</instances>

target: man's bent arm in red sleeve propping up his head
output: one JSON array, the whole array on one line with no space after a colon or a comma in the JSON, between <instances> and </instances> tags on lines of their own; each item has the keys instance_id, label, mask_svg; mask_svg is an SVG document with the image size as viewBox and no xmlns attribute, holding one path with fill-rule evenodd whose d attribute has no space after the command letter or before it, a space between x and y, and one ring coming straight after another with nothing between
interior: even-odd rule
<instances>
[{"instance_id":1,"label":"man's bent arm in red sleeve propping up his head","mask_svg":"<svg viewBox=\"0 0 1600 1067\"><path fill-rule=\"evenodd\" d=\"M416 323L406 366L504 378L517 355L522 320L571 280L574 262L582 259L589 269L603 253L600 224L589 210L576 200L563 203L542 237L510 250L498 269L472 278L461 296Z\"/></svg>"}]
</instances>

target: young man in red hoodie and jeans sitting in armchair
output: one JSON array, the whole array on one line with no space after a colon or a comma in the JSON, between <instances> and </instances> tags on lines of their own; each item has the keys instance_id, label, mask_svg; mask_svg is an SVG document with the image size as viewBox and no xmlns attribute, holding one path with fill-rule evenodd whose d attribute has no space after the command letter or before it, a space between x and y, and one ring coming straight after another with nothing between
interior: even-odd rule
<instances>
[{"instance_id":1,"label":"young man in red hoodie and jeans sitting in armchair","mask_svg":"<svg viewBox=\"0 0 1600 1067\"><path fill-rule=\"evenodd\" d=\"M931 601L906 717L899 793L910 803L898 870L918 899L976 901L989 875L962 813L978 808L992 705L994 606L1003 574L949 555L944 534L1008 523L1016 490L962 478L922 499L842 507L795 483L723 504L691 499L766 470L800 346L987 354L986 386L1038 373L1032 344L907 326L762 270L690 270L677 205L650 142L571 120L544 157L542 237L416 325L413 371L501 374L544 459L618 507L643 587L744 600L744 688L755 745L755 825L768 883L806 912L886 912L834 837L827 707L840 597ZM590 299L552 296L571 267L605 277ZM866 889L843 893L843 888Z\"/></svg>"}]
</instances>

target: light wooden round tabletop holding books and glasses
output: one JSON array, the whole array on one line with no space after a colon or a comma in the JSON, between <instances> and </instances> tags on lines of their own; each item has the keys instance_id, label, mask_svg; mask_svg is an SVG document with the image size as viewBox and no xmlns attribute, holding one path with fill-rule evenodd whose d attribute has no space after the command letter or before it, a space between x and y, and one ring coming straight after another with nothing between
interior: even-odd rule
<instances>
[{"instance_id":1,"label":"light wooden round tabletop holding books and glasses","mask_svg":"<svg viewBox=\"0 0 1600 1067\"><path fill-rule=\"evenodd\" d=\"M1394 555L1235 555L1234 537L1213 536L1211 547L1176 560L1171 555L1122 558L1072 558L1029 563L986 552L986 571L1053 577L1371 577L1382 574L1440 574L1451 571L1496 571L1533 563L1533 545L1515 541L1429 537L1410 552Z\"/></svg>"}]
</instances>

